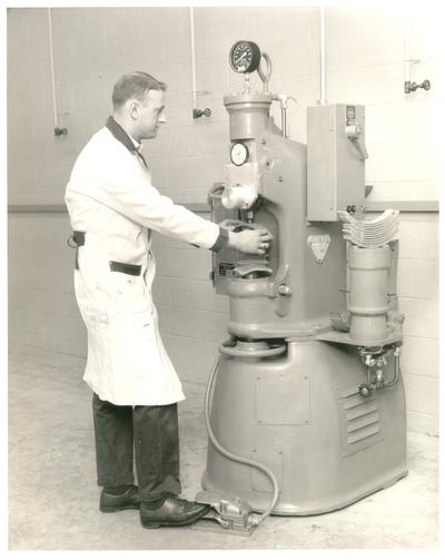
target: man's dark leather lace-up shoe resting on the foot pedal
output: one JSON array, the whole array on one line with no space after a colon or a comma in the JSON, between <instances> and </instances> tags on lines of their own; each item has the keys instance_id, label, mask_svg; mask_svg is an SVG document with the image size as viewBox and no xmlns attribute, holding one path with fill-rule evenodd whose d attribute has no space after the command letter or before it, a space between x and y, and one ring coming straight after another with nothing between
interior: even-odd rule
<instances>
[{"instance_id":1,"label":"man's dark leather lace-up shoe resting on the foot pedal","mask_svg":"<svg viewBox=\"0 0 445 560\"><path fill-rule=\"evenodd\" d=\"M140 522L146 529L157 527L191 525L210 509L210 505L189 502L176 495L168 495L162 505L150 510L140 504Z\"/></svg>"}]
</instances>

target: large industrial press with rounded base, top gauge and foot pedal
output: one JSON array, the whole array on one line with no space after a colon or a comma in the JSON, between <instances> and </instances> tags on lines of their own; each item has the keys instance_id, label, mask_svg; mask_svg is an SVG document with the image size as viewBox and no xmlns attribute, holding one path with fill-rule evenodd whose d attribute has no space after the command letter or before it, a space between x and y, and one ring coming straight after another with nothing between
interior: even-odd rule
<instances>
[{"instance_id":1,"label":"large industrial press with rounded base, top gauge and foot pedal","mask_svg":"<svg viewBox=\"0 0 445 560\"><path fill-rule=\"evenodd\" d=\"M333 511L406 475L403 315L397 212L366 214L365 108L309 107L307 146L293 141L289 98L268 90L269 57L241 40L229 58L244 90L224 99L229 160L209 193L212 219L266 227L274 240L264 257L214 256L229 338L207 389L196 499L250 533L270 513Z\"/></svg>"}]
</instances>

